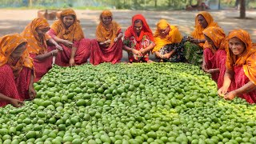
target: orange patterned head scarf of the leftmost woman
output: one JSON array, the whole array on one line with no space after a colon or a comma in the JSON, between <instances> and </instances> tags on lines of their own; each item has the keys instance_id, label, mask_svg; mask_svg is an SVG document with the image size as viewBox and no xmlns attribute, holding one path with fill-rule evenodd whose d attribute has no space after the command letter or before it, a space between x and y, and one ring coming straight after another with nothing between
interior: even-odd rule
<instances>
[{"instance_id":1,"label":"orange patterned head scarf of the leftmost woman","mask_svg":"<svg viewBox=\"0 0 256 144\"><path fill-rule=\"evenodd\" d=\"M12 65L14 60L10 58L10 54L23 42L26 42L26 39L20 34L8 34L0 38L0 66L6 63L10 64L15 77L21 72L22 66L33 69L33 59L30 58L26 50L22 57L18 59L18 62L14 66Z\"/></svg>"}]
</instances>

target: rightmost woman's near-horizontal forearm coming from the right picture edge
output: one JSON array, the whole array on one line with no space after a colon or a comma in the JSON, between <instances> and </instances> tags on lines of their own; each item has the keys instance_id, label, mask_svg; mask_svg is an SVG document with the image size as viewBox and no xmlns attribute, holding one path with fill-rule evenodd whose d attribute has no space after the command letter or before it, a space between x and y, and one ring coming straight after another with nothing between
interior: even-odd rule
<instances>
[{"instance_id":1,"label":"rightmost woman's near-horizontal forearm coming from the right picture edge","mask_svg":"<svg viewBox=\"0 0 256 144\"><path fill-rule=\"evenodd\" d=\"M256 89L256 85L253 82L247 82L244 86L238 88L237 90L230 91L228 94L224 96L227 100L234 99L235 96L246 94L252 90Z\"/></svg>"}]
</instances>

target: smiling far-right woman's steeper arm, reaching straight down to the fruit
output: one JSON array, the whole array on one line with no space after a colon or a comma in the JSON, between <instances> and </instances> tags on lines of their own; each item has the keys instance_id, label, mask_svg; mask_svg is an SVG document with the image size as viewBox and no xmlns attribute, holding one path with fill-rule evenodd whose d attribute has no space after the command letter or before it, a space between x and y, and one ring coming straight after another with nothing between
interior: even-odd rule
<instances>
[{"instance_id":1,"label":"smiling far-right woman's steeper arm, reaching straight down to the fruit","mask_svg":"<svg viewBox=\"0 0 256 144\"><path fill-rule=\"evenodd\" d=\"M218 95L225 95L227 92L227 89L230 87L231 80L234 78L234 71L226 69L226 72L224 74L224 82L223 86L218 90Z\"/></svg>"}]
</instances>

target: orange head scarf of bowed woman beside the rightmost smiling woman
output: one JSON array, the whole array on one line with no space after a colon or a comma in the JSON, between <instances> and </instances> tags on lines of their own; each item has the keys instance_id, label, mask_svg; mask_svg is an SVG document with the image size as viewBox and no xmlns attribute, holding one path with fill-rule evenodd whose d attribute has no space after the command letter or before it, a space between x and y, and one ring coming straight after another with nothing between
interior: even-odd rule
<instances>
[{"instance_id":1,"label":"orange head scarf of bowed woman beside the rightmost smiling woman","mask_svg":"<svg viewBox=\"0 0 256 144\"><path fill-rule=\"evenodd\" d=\"M225 33L224 30L222 30L222 28L217 26L211 26L203 30L202 33L214 42L214 46L216 46L217 49L225 49L225 47L221 46L225 38ZM210 50L212 50L214 53L217 51L210 44L208 48L210 48Z\"/></svg>"}]
</instances>

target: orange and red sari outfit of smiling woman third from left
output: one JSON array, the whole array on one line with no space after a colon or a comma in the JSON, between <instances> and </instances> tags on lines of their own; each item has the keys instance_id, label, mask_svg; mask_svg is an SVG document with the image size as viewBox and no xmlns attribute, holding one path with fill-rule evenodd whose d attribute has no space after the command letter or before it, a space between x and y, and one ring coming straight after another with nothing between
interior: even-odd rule
<instances>
[{"instance_id":1,"label":"orange and red sari outfit of smiling woman third from left","mask_svg":"<svg viewBox=\"0 0 256 144\"><path fill-rule=\"evenodd\" d=\"M74 16L74 23L66 29L62 21L63 17L67 15ZM75 64L80 65L87 62L87 59L90 57L90 39L84 38L82 27L74 10L63 10L60 19L53 23L48 34L51 38L58 37L73 42L73 47L77 48L74 55ZM58 66L69 66L71 47L66 47L62 43L59 43L59 45L62 46L63 51L58 52L55 63ZM54 49L54 47L50 47L50 49Z\"/></svg>"}]
</instances>

